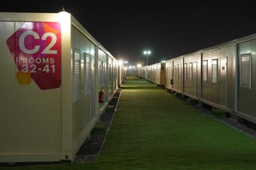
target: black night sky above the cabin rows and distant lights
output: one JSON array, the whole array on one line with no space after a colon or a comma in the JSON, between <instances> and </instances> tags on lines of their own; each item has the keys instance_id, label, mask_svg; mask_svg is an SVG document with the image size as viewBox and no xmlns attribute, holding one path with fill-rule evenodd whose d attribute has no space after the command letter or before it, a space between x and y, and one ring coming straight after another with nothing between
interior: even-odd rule
<instances>
[{"instance_id":1,"label":"black night sky above the cabin rows and distant lights","mask_svg":"<svg viewBox=\"0 0 256 170\"><path fill-rule=\"evenodd\" d=\"M27 3L25 3L27 2ZM149 64L256 33L253 1L10 1L0 12L71 13L115 58Z\"/></svg>"}]
</instances>

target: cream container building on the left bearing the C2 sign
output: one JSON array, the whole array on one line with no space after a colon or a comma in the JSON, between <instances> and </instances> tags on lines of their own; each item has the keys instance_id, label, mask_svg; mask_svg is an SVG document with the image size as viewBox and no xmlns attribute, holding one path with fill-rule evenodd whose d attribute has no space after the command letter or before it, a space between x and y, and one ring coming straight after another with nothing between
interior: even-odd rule
<instances>
[{"instance_id":1,"label":"cream container building on the left bearing the C2 sign","mask_svg":"<svg viewBox=\"0 0 256 170\"><path fill-rule=\"evenodd\" d=\"M67 12L0 13L0 31L0 162L74 160L118 62Z\"/></svg>"}]
</instances>

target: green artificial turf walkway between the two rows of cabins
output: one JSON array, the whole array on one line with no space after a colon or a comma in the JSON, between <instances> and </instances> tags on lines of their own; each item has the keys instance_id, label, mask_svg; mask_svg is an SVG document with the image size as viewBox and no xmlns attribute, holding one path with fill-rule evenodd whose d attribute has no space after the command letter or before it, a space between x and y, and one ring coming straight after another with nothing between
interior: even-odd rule
<instances>
[{"instance_id":1,"label":"green artificial turf walkway between the two rows of cabins","mask_svg":"<svg viewBox=\"0 0 256 170\"><path fill-rule=\"evenodd\" d=\"M128 77L103 150L93 163L6 169L18 168L251 170L256 169L256 140L147 81Z\"/></svg>"}]
</instances>

